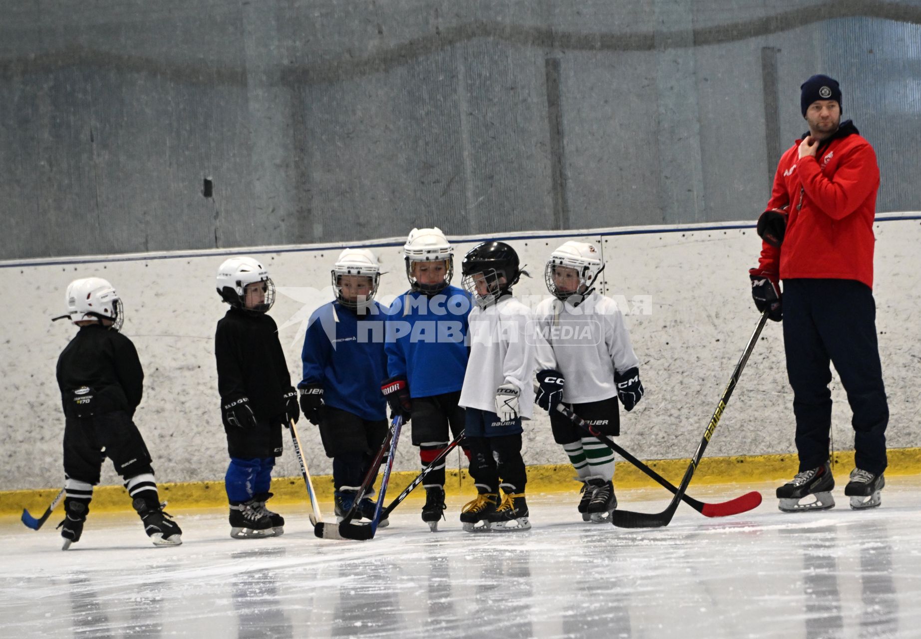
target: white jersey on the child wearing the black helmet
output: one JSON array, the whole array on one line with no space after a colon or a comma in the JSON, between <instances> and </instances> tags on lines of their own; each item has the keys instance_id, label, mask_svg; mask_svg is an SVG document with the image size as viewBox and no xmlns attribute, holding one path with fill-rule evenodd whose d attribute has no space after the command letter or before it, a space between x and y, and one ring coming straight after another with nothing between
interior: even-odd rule
<instances>
[{"instance_id":1,"label":"white jersey on the child wearing the black helmet","mask_svg":"<svg viewBox=\"0 0 921 639\"><path fill-rule=\"evenodd\" d=\"M530 419L534 404L534 326L530 309L513 296L470 313L470 359L463 378L461 406L495 412L495 389L514 384L519 410Z\"/></svg>"}]
</instances>

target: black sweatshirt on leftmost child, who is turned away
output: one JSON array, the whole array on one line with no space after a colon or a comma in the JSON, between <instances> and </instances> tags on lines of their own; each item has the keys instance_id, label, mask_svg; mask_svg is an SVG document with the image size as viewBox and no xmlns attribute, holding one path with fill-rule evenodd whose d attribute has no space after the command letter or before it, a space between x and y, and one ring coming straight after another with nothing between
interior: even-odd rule
<instances>
[{"instance_id":1,"label":"black sweatshirt on leftmost child, who is turned away","mask_svg":"<svg viewBox=\"0 0 921 639\"><path fill-rule=\"evenodd\" d=\"M73 416L73 391L93 389L96 413L126 411L134 415L144 394L144 369L134 343L119 331L99 324L80 328L58 357L58 388L64 414Z\"/></svg>"}]
</instances>

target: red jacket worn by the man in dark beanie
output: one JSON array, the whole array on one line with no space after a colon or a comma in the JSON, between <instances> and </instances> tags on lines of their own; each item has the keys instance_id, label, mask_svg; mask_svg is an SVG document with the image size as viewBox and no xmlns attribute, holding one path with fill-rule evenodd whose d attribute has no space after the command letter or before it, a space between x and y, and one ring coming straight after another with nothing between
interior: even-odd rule
<instances>
[{"instance_id":1,"label":"red jacket worn by the man in dark beanie","mask_svg":"<svg viewBox=\"0 0 921 639\"><path fill-rule=\"evenodd\" d=\"M763 243L760 268L780 279L857 280L873 287L873 218L880 168L873 147L844 122L815 157L799 143L777 164L767 208L787 208L781 248Z\"/></svg>"}]
</instances>

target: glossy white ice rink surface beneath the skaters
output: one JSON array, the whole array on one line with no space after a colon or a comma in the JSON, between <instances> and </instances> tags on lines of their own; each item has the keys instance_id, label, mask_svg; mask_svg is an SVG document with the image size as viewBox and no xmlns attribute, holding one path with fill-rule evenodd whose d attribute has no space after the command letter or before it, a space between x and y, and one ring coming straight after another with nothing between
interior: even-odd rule
<instances>
[{"instance_id":1,"label":"glossy white ice rink surface beneath the skaters","mask_svg":"<svg viewBox=\"0 0 921 639\"><path fill-rule=\"evenodd\" d=\"M583 523L577 494L530 495L533 529L471 534L460 500L430 533L407 501L367 542L318 540L305 507L286 534L231 540L223 510L176 511L185 543L156 548L134 514L92 513L61 552L7 517L2 637L919 637L921 478L887 478L880 508L784 514L775 484L751 513L682 505L665 529ZM668 494L619 494L657 512ZM329 505L325 505L329 514ZM168 508L169 510L169 508Z\"/></svg>"}]
</instances>

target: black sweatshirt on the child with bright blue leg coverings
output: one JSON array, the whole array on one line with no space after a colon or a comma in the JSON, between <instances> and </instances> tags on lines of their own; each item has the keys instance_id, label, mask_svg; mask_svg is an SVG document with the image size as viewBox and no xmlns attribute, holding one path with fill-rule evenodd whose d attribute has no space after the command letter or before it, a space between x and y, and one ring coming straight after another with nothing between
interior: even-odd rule
<instances>
[{"instance_id":1,"label":"black sweatshirt on the child with bright blue leg coverings","mask_svg":"<svg viewBox=\"0 0 921 639\"><path fill-rule=\"evenodd\" d=\"M291 388L291 374L274 319L230 308L217 322L215 354L222 404L246 397L258 420L284 415L282 395Z\"/></svg>"}]
</instances>

